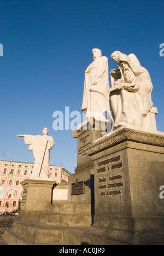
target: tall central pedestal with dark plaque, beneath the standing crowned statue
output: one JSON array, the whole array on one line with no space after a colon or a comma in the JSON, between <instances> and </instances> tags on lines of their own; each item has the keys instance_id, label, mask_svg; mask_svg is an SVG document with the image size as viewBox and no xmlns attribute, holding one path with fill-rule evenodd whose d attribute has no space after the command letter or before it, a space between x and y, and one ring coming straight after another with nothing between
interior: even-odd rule
<instances>
[{"instance_id":1,"label":"tall central pedestal with dark plaque, beneath the standing crowned statue","mask_svg":"<svg viewBox=\"0 0 164 256\"><path fill-rule=\"evenodd\" d=\"M68 202L93 204L94 193L94 166L91 156L85 153L85 149L93 144L105 127L105 123L93 119L86 119L72 131L72 136L78 138L77 168L75 173L69 176ZM103 126L103 127L102 127Z\"/></svg>"}]
</instances>

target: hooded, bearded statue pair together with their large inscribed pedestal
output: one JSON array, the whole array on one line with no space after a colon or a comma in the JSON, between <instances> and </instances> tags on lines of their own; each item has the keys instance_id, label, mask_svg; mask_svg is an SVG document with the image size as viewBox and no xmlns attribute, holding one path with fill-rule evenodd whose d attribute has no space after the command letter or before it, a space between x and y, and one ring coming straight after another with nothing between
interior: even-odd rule
<instances>
[{"instance_id":1,"label":"hooded, bearded statue pair together with their large inscribed pedestal","mask_svg":"<svg viewBox=\"0 0 164 256\"><path fill-rule=\"evenodd\" d=\"M156 130L153 85L135 55L116 51L112 57L119 65L110 71L113 131L85 150L95 181L95 215L87 235L109 245L162 245L164 133Z\"/></svg>"}]
</instances>

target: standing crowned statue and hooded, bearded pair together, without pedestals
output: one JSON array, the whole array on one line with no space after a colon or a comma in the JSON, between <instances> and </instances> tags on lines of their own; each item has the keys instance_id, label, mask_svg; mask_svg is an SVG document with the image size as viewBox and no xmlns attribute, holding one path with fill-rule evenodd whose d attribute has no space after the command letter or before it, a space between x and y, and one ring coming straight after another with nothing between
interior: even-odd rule
<instances>
[{"instance_id":1,"label":"standing crowned statue and hooded, bearded pair together, without pedestals","mask_svg":"<svg viewBox=\"0 0 164 256\"><path fill-rule=\"evenodd\" d=\"M86 118L112 115L113 127L133 125L152 129L151 91L149 72L140 66L134 54L114 51L112 59L118 69L110 71L112 87L109 89L108 59L101 50L93 49L93 62L85 71L84 96L81 110Z\"/></svg>"}]
</instances>

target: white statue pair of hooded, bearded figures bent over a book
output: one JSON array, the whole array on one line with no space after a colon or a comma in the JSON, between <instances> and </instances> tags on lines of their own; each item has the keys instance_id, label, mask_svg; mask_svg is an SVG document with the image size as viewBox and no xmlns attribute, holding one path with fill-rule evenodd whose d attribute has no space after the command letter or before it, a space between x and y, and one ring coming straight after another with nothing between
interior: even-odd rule
<instances>
[{"instance_id":1,"label":"white statue pair of hooded, bearded figures bent over a book","mask_svg":"<svg viewBox=\"0 0 164 256\"><path fill-rule=\"evenodd\" d=\"M127 56L117 51L115 55L117 57L112 59L118 63L120 75L114 77L113 86L109 89L114 129L130 124L151 130L153 85L150 75L134 54ZM114 72L110 71L110 74L113 76Z\"/></svg>"}]
</instances>

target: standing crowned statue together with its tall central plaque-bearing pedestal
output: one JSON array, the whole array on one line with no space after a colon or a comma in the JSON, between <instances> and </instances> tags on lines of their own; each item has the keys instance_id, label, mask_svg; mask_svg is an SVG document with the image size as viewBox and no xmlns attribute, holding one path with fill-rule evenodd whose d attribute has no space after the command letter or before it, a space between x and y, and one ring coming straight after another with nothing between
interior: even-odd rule
<instances>
[{"instance_id":1,"label":"standing crowned statue together with its tall central plaque-bearing pedestal","mask_svg":"<svg viewBox=\"0 0 164 256\"><path fill-rule=\"evenodd\" d=\"M82 112L86 120L72 131L78 138L78 158L75 173L69 177L68 201L71 203L91 203L92 214L94 194L94 167L85 149L100 138L107 125L109 112L109 71L108 59L101 50L92 49L93 62L85 71Z\"/></svg>"}]
</instances>

